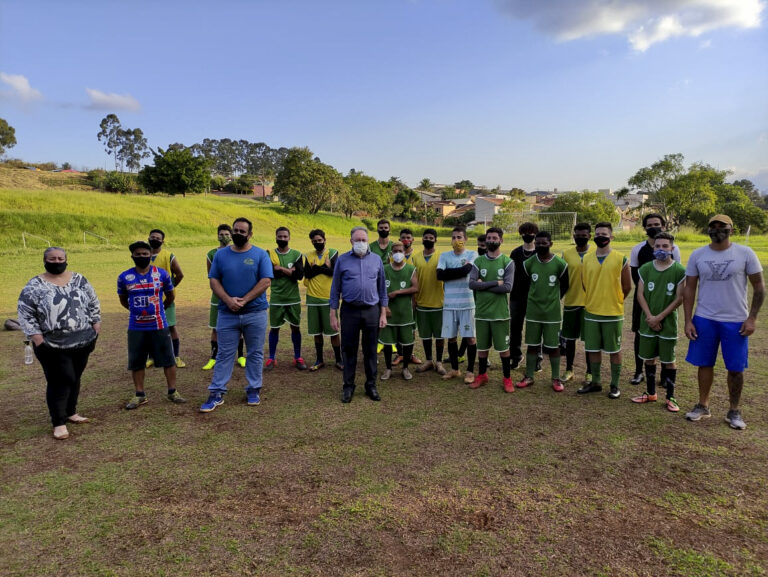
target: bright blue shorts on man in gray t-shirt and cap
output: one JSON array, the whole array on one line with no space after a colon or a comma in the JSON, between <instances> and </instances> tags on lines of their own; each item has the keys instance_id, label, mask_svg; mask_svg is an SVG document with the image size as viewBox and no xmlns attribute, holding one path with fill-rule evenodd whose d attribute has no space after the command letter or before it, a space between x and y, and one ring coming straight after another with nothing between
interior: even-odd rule
<instances>
[{"instance_id":1,"label":"bright blue shorts on man in gray t-shirt and cap","mask_svg":"<svg viewBox=\"0 0 768 577\"><path fill-rule=\"evenodd\" d=\"M725 368L734 373L743 373L749 366L749 337L739 334L741 325L694 316L693 326L699 336L688 344L685 360L695 367L714 367L719 345L723 351Z\"/></svg>"}]
</instances>

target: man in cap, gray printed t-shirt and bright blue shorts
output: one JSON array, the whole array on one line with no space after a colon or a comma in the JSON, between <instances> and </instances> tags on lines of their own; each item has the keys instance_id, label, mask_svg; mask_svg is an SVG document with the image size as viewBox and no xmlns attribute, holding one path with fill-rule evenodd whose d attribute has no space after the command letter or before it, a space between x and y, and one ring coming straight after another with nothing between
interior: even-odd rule
<instances>
[{"instance_id":1,"label":"man in cap, gray printed t-shirt and bright blue shorts","mask_svg":"<svg viewBox=\"0 0 768 577\"><path fill-rule=\"evenodd\" d=\"M724 214L709 220L712 242L691 254L683 292L685 334L690 339L686 361L699 368L699 402L686 413L689 421L711 416L709 393L714 378L717 350L722 350L728 370L730 410L725 417L733 429L745 429L739 401L747 368L748 337L755 332L757 313L765 298L763 267L755 252L731 242L733 221ZM747 307L747 278L754 294ZM699 289L696 314L693 302Z\"/></svg>"}]
</instances>

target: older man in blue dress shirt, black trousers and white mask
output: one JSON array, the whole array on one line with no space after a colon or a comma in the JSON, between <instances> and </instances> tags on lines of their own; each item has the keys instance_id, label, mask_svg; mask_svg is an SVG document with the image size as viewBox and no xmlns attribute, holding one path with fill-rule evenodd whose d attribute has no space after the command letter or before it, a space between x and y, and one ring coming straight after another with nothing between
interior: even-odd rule
<instances>
[{"instance_id":1,"label":"older man in blue dress shirt, black trousers and white mask","mask_svg":"<svg viewBox=\"0 0 768 577\"><path fill-rule=\"evenodd\" d=\"M352 229L352 250L339 255L331 283L331 328L339 330L341 303L341 350L344 360L344 384L341 402L349 403L355 392L355 368L360 331L363 333L365 394L380 401L376 390L376 342L379 329L387 326L387 297L384 265L368 246L368 231L362 226Z\"/></svg>"}]
</instances>

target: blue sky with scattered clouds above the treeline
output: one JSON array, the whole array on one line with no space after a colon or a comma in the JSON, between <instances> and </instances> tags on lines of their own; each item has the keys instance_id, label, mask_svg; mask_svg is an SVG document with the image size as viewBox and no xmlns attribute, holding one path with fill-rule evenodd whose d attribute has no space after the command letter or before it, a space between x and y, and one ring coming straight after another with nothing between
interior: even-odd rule
<instances>
[{"instance_id":1,"label":"blue sky with scattered clouds above the treeline","mask_svg":"<svg viewBox=\"0 0 768 577\"><path fill-rule=\"evenodd\" d=\"M307 146L411 186L617 189L665 154L768 193L768 0L0 0L7 156Z\"/></svg>"}]
</instances>

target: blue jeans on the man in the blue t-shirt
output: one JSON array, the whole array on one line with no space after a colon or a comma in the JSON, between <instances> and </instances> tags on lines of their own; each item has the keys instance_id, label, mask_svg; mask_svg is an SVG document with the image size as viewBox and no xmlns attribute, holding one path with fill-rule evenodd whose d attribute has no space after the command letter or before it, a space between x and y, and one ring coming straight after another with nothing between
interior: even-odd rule
<instances>
[{"instance_id":1,"label":"blue jeans on the man in the blue t-shirt","mask_svg":"<svg viewBox=\"0 0 768 577\"><path fill-rule=\"evenodd\" d=\"M264 338L267 331L267 311L235 314L229 309L219 309L216 335L219 352L213 367L213 379L208 387L211 392L226 393L227 383L232 377L232 367L237 356L237 343L242 333L248 351L245 363L246 391L261 388L261 373L264 365Z\"/></svg>"}]
</instances>

